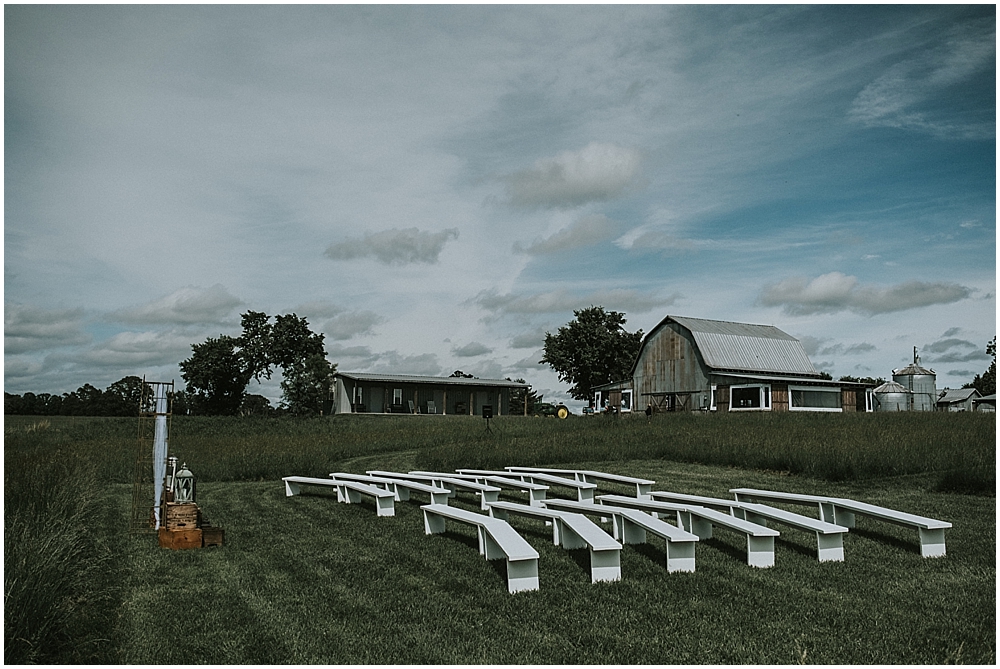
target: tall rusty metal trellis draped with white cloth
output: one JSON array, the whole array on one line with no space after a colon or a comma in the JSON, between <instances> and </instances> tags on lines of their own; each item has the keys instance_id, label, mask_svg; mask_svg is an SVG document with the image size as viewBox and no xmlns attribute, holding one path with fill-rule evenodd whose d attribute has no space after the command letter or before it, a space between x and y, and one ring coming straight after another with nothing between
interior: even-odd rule
<instances>
[{"instance_id":1,"label":"tall rusty metal trellis draped with white cloth","mask_svg":"<svg viewBox=\"0 0 1000 669\"><path fill-rule=\"evenodd\" d=\"M170 433L171 411L174 397L173 381L146 381L142 379L142 394L139 400L139 432L136 441L135 469L132 478L132 514L129 530L132 533L156 531L156 512L163 503L153 499L156 494L154 471L154 440L156 423L159 418L166 423L166 434ZM165 398L158 402L157 398ZM164 449L163 470L166 469L166 449ZM162 480L161 480L162 483ZM161 487L161 491L165 489Z\"/></svg>"}]
</instances>

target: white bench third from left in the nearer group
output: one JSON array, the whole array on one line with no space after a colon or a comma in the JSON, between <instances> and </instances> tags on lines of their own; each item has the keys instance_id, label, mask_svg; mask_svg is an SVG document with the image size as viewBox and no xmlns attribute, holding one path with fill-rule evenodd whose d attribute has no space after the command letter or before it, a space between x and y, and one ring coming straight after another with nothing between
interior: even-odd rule
<instances>
[{"instance_id":1,"label":"white bench third from left in the nearer group","mask_svg":"<svg viewBox=\"0 0 1000 669\"><path fill-rule=\"evenodd\" d=\"M645 543L647 532L659 536L666 542L667 571L694 571L694 544L698 541L698 537L670 523L621 507L573 502L566 499L548 499L544 504L547 508L573 511L588 516L611 517L614 520L614 536L623 544Z\"/></svg>"}]
</instances>

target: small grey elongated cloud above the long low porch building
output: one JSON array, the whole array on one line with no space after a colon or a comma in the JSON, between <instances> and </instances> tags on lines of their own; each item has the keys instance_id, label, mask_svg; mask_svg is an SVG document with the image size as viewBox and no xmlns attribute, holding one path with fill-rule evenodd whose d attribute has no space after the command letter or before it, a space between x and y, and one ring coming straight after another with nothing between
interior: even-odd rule
<instances>
[{"instance_id":1,"label":"small grey elongated cloud above the long low porch building","mask_svg":"<svg viewBox=\"0 0 1000 669\"><path fill-rule=\"evenodd\" d=\"M421 232L417 228L371 232L360 239L347 239L330 244L325 255L333 260L355 260L373 257L385 265L409 265L438 261L444 245L458 239L458 229L441 232Z\"/></svg>"}]
</instances>

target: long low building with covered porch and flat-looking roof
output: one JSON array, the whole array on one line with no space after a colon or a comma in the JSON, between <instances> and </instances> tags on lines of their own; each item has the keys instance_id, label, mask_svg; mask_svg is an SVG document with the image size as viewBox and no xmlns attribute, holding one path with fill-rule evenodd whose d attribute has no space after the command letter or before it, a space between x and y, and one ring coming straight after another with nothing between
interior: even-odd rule
<instances>
[{"instance_id":1,"label":"long low building with covered porch and flat-looking roof","mask_svg":"<svg viewBox=\"0 0 1000 669\"><path fill-rule=\"evenodd\" d=\"M502 379L337 372L332 412L479 416L489 407L494 416L508 415L511 392L527 387Z\"/></svg>"}]
</instances>

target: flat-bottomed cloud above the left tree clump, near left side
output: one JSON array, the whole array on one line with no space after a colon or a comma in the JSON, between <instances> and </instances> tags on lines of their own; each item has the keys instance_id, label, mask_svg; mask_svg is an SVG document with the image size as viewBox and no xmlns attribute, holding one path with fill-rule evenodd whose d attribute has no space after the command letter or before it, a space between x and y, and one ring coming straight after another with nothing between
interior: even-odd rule
<instances>
[{"instance_id":1,"label":"flat-bottomed cloud above the left tree clump, near left side","mask_svg":"<svg viewBox=\"0 0 1000 669\"><path fill-rule=\"evenodd\" d=\"M225 323L242 304L222 284L210 288L187 286L140 307L112 312L109 318L130 325Z\"/></svg>"}]
</instances>

